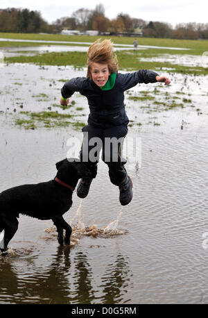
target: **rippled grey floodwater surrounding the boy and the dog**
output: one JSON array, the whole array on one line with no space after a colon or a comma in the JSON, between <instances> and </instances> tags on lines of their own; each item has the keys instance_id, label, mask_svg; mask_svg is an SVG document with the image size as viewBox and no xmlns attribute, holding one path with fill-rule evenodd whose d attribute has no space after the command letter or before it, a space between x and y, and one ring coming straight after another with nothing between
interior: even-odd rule
<instances>
[{"instance_id":1,"label":"rippled grey floodwater surrounding the boy and the dog","mask_svg":"<svg viewBox=\"0 0 208 318\"><path fill-rule=\"evenodd\" d=\"M55 162L67 156L67 140L81 142L81 132L70 125L25 130L15 119L21 110L53 107L60 80L85 72L1 67L0 191L51 180ZM135 147L126 153L132 202L121 207L101 161L89 196L82 200L74 192L64 215L73 227L70 249L58 246L51 221L20 216L10 253L0 256L0 303L208 303L208 77L166 74L168 87L140 84L125 94L131 121L126 139L140 147L137 157ZM129 98L144 90L159 103L174 100L184 108L156 109L153 100ZM84 108L76 118L87 122L85 98L76 93L71 99ZM76 106L58 111L75 114Z\"/></svg>"}]
</instances>

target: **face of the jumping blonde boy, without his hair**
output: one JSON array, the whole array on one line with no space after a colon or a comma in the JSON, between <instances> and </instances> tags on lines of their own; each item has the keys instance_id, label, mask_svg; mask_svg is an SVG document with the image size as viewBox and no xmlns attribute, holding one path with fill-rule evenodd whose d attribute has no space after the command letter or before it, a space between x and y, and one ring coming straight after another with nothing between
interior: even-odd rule
<instances>
[{"instance_id":1,"label":"face of the jumping blonde boy, without his hair","mask_svg":"<svg viewBox=\"0 0 208 318\"><path fill-rule=\"evenodd\" d=\"M108 65L93 62L91 75L92 81L99 87L103 87L107 83L108 76L110 76Z\"/></svg>"}]
</instances>

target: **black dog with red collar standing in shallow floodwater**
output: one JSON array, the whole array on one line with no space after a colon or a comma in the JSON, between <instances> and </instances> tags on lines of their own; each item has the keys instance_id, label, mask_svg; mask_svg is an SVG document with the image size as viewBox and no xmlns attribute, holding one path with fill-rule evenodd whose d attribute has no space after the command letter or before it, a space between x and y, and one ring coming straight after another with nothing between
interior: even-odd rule
<instances>
[{"instance_id":1,"label":"black dog with red collar standing in shallow floodwater","mask_svg":"<svg viewBox=\"0 0 208 318\"><path fill-rule=\"evenodd\" d=\"M70 162L64 159L56 163L58 172L51 181L19 185L1 192L0 233L4 230L1 252L7 253L8 243L18 228L19 213L37 219L52 219L57 228L59 244L70 244L71 226L62 215L71 208L71 196L78 179L91 176L82 162L71 162L71 159Z\"/></svg>"}]
</instances>

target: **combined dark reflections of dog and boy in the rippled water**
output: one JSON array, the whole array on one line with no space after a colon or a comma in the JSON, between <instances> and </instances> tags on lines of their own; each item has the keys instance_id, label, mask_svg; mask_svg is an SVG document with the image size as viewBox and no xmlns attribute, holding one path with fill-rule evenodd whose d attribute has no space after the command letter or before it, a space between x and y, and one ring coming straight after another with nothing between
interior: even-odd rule
<instances>
[{"instance_id":1,"label":"combined dark reflections of dog and boy in the rippled water","mask_svg":"<svg viewBox=\"0 0 208 318\"><path fill-rule=\"evenodd\" d=\"M107 265L97 291L98 277L87 254L77 252L73 261L68 247L58 247L47 268L37 256L2 258L0 265L0 303L119 303L129 289L128 259L119 254ZM98 278L100 280L100 278ZM96 284L94 286L94 283ZM102 296L101 296L102 295Z\"/></svg>"}]
</instances>

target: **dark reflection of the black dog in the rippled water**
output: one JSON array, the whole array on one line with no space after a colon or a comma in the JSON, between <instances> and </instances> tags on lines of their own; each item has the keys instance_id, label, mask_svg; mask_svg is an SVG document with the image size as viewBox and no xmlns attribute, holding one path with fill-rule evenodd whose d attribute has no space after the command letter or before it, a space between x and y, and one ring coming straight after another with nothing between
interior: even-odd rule
<instances>
[{"instance_id":1,"label":"dark reflection of the black dog in the rippled water","mask_svg":"<svg viewBox=\"0 0 208 318\"><path fill-rule=\"evenodd\" d=\"M67 303L69 287L64 276L70 268L69 251L59 246L55 259L46 271L35 267L36 256L26 262L16 255L5 258L0 265L3 274L0 303L8 303L8 300L10 303L31 303L31 298L33 303Z\"/></svg>"}]
</instances>

